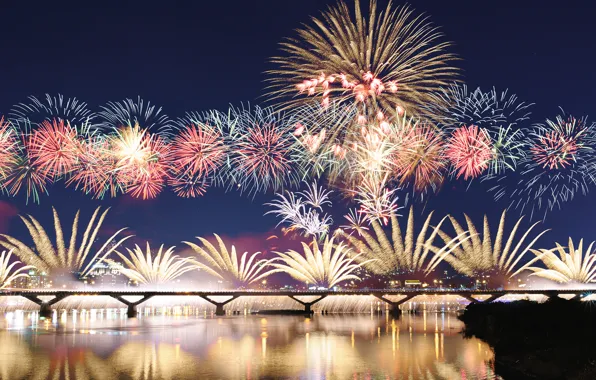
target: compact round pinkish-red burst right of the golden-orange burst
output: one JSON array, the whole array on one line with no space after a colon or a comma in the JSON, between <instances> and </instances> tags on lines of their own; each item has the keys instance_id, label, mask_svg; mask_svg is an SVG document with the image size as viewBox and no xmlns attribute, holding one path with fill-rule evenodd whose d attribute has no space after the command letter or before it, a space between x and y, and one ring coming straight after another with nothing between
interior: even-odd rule
<instances>
[{"instance_id":1,"label":"compact round pinkish-red burst right of the golden-orange burst","mask_svg":"<svg viewBox=\"0 0 596 380\"><path fill-rule=\"evenodd\" d=\"M476 178L494 158L493 145L485 129L463 126L452 133L445 156L457 172L456 178Z\"/></svg>"}]
</instances>

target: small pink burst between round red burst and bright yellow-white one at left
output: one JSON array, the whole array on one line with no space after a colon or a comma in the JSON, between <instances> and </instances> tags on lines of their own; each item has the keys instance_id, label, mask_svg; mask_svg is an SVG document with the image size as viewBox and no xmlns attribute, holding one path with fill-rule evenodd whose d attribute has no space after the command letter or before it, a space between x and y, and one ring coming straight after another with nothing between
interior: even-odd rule
<instances>
[{"instance_id":1,"label":"small pink burst between round red burst and bright yellow-white one at left","mask_svg":"<svg viewBox=\"0 0 596 380\"><path fill-rule=\"evenodd\" d=\"M81 154L66 185L96 199L107 193L115 197L122 190L117 180L116 160L107 140L89 138L81 142Z\"/></svg>"}]
</instances>

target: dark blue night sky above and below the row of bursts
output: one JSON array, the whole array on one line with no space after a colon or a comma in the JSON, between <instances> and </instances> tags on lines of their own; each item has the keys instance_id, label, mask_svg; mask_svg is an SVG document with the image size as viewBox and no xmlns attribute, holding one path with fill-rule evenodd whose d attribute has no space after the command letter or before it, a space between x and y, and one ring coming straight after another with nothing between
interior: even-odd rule
<instances>
[{"instance_id":1,"label":"dark blue night sky above and below the row of bursts","mask_svg":"<svg viewBox=\"0 0 596 380\"><path fill-rule=\"evenodd\" d=\"M264 72L273 67L268 58L278 54L278 43L334 0L187 1L166 7L148 6L151 2L85 3L3 2L0 114L29 95L45 93L77 97L92 109L141 96L173 119L186 111L262 103ZM429 14L454 42L452 51L462 58L458 65L469 87L509 88L521 100L535 103L532 121L554 118L559 106L576 116L593 113L596 23L589 2L426 0L411 5ZM467 185L448 183L425 212L435 209L438 216L452 213L460 219L467 212L477 225L487 213L496 228L507 203L493 201L482 184L473 183L466 191ZM251 244L258 246L277 223L273 216L263 216L263 203L272 194L252 199L210 189L194 200L165 191L150 201L128 196L94 201L65 189L62 182L50 187L50 194L41 205L2 195L0 230L21 235L23 227L14 218L18 213L30 213L50 228L51 206L63 224L70 223L76 209L87 219L98 205L112 206L108 229L129 226L143 239L178 246L181 240L213 232L250 235L257 241ZM580 193L550 213L545 228L553 231L542 245L564 242L568 236L594 239L595 200L594 192ZM421 222L420 212L416 214ZM512 222L518 213L510 215Z\"/></svg>"}]
</instances>

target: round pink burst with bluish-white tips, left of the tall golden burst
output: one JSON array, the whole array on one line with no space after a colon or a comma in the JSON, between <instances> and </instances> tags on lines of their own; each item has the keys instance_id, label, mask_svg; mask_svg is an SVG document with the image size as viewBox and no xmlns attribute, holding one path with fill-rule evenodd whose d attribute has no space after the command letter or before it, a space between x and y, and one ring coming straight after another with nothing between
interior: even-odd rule
<instances>
[{"instance_id":1,"label":"round pink burst with bluish-white tips, left of the tall golden burst","mask_svg":"<svg viewBox=\"0 0 596 380\"><path fill-rule=\"evenodd\" d=\"M289 148L292 141L274 124L255 125L236 145L237 169L247 181L267 188L268 183L279 187L290 170Z\"/></svg>"}]
</instances>

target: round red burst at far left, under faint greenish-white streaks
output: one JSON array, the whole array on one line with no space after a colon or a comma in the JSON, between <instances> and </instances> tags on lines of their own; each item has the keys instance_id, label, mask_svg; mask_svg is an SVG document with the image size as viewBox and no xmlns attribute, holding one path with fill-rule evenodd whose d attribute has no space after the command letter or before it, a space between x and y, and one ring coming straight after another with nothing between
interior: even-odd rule
<instances>
[{"instance_id":1,"label":"round red burst at far left, under faint greenish-white streaks","mask_svg":"<svg viewBox=\"0 0 596 380\"><path fill-rule=\"evenodd\" d=\"M77 162L80 153L77 137L77 131L64 120L46 120L29 137L27 150L41 171L58 177L69 173Z\"/></svg>"}]
</instances>

